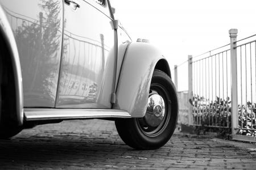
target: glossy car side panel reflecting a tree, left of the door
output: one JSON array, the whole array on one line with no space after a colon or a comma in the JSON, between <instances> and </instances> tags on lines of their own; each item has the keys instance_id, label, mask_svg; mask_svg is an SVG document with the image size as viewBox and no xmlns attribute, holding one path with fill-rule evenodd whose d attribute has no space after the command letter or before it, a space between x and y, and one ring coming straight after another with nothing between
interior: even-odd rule
<instances>
[{"instance_id":1,"label":"glossy car side panel reflecting a tree, left of the door","mask_svg":"<svg viewBox=\"0 0 256 170\"><path fill-rule=\"evenodd\" d=\"M59 78L62 0L1 0L22 69L24 107L55 107Z\"/></svg>"}]
</instances>

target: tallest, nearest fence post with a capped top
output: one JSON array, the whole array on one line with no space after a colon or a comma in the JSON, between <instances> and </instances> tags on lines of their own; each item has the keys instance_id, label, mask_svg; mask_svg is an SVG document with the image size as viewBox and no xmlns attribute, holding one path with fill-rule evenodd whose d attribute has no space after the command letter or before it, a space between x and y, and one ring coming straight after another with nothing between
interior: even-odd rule
<instances>
[{"instance_id":1,"label":"tallest, nearest fence post with a capped top","mask_svg":"<svg viewBox=\"0 0 256 170\"><path fill-rule=\"evenodd\" d=\"M231 126L232 135L237 128L237 29L229 29L231 61Z\"/></svg>"}]
</instances>

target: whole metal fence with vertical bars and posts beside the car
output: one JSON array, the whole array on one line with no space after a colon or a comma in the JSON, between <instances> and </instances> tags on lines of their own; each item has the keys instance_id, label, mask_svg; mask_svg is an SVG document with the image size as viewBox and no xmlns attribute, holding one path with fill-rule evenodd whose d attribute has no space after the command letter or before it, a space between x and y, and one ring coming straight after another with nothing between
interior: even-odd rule
<instances>
[{"instance_id":1,"label":"whole metal fence with vertical bars and posts beside the car","mask_svg":"<svg viewBox=\"0 0 256 170\"><path fill-rule=\"evenodd\" d=\"M231 128L234 139L255 141L256 35L237 41L237 29L230 29L229 36L230 44L199 56L188 56L185 62L188 124ZM175 66L176 84L179 67ZM183 102L180 104L184 105ZM184 108L181 108L180 118L183 118Z\"/></svg>"}]
</instances>

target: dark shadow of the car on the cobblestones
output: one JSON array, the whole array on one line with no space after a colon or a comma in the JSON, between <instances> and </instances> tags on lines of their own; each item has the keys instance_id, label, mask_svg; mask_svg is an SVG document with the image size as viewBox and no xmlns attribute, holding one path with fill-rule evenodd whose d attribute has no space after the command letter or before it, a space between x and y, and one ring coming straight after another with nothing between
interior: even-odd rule
<instances>
[{"instance_id":1,"label":"dark shadow of the car on the cobblestones","mask_svg":"<svg viewBox=\"0 0 256 170\"><path fill-rule=\"evenodd\" d=\"M110 135L111 136L111 135ZM117 134L112 138L102 134L17 135L0 140L0 168L59 168L75 167L114 168L113 166L139 164L161 152L134 150L125 145ZM2 169L1 168L1 169Z\"/></svg>"}]
</instances>

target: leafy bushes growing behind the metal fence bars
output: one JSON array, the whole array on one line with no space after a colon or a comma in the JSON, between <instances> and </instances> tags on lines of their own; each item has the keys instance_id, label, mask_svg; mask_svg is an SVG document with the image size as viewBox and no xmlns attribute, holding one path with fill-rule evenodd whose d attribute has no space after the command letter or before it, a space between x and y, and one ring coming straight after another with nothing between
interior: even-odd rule
<instances>
[{"instance_id":1,"label":"leafy bushes growing behind the metal fence bars","mask_svg":"<svg viewBox=\"0 0 256 170\"><path fill-rule=\"evenodd\" d=\"M222 137L231 133L231 101L229 97L226 99L216 97L216 100L212 101L194 95L189 103L193 106L193 123L197 126L198 133L214 131ZM255 130L247 129L256 129L256 103L253 104L247 101L247 105L238 105L237 111L238 128L245 128L238 130L237 134L255 136Z\"/></svg>"}]
</instances>

